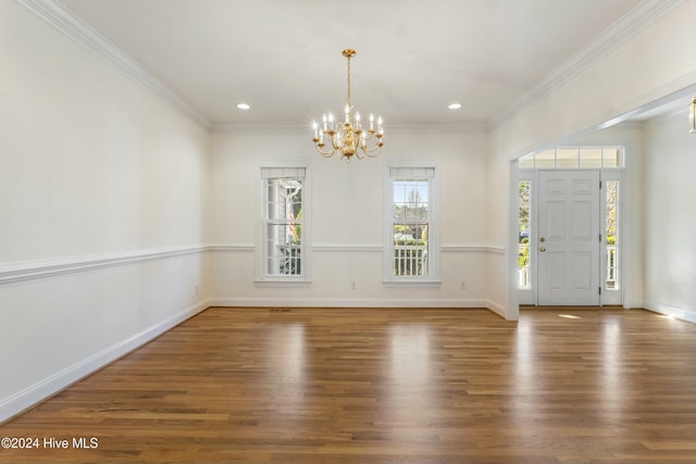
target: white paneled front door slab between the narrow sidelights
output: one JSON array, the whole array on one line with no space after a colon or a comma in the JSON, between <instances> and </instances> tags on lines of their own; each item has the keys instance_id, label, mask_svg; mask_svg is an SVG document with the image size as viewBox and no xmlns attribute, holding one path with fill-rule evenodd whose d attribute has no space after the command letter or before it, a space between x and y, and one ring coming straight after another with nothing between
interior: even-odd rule
<instances>
[{"instance_id":1,"label":"white paneled front door slab between the narrow sidelights","mask_svg":"<svg viewBox=\"0 0 696 464\"><path fill-rule=\"evenodd\" d=\"M599 172L540 171L539 305L599 305Z\"/></svg>"}]
</instances>

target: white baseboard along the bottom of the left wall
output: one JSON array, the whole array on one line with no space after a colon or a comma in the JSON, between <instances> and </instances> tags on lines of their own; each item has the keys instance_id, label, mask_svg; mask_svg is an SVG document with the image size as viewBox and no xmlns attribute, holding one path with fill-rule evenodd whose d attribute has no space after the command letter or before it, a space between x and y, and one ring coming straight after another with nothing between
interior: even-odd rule
<instances>
[{"instance_id":1,"label":"white baseboard along the bottom of the left wall","mask_svg":"<svg viewBox=\"0 0 696 464\"><path fill-rule=\"evenodd\" d=\"M0 424L210 308L203 300L0 401Z\"/></svg>"}]
</instances>

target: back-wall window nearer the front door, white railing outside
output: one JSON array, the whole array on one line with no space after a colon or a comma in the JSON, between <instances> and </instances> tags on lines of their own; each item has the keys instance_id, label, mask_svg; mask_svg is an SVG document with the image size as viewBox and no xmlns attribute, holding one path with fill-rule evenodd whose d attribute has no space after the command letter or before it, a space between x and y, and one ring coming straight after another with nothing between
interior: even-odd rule
<instances>
[{"instance_id":1,"label":"back-wall window nearer the front door, white railing outside","mask_svg":"<svg viewBox=\"0 0 696 464\"><path fill-rule=\"evenodd\" d=\"M389 167L387 280L433 280L436 276L433 166Z\"/></svg>"}]
</instances>

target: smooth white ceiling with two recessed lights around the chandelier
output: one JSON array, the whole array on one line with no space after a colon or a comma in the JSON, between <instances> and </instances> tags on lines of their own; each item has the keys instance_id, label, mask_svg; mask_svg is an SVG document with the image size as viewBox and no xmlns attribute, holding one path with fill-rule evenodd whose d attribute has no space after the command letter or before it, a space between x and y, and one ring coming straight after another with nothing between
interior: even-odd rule
<instances>
[{"instance_id":1,"label":"smooth white ceiling with two recessed lights around the chandelier","mask_svg":"<svg viewBox=\"0 0 696 464\"><path fill-rule=\"evenodd\" d=\"M490 123L641 0L61 3L215 124L309 125L343 111L340 52L353 48L352 103L388 130Z\"/></svg>"}]
</instances>

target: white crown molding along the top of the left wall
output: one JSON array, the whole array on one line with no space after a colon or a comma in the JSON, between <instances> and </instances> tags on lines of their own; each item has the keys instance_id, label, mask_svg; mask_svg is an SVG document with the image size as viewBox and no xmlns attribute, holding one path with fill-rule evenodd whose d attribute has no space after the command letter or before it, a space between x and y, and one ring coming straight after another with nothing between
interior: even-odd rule
<instances>
[{"instance_id":1,"label":"white crown molding along the top of the left wall","mask_svg":"<svg viewBox=\"0 0 696 464\"><path fill-rule=\"evenodd\" d=\"M208 117L185 102L171 88L58 0L15 0L15 2L210 130L212 124Z\"/></svg>"}]
</instances>

